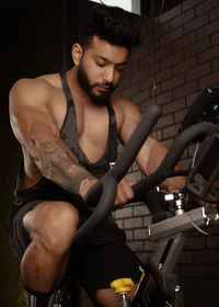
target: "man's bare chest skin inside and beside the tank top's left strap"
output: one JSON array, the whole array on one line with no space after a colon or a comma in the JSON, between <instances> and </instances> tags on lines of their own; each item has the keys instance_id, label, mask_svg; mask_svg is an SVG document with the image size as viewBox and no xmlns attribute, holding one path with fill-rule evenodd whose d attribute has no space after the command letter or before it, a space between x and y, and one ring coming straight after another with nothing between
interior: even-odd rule
<instances>
[{"instance_id":1,"label":"man's bare chest skin inside and beside the tank top's left strap","mask_svg":"<svg viewBox=\"0 0 219 307\"><path fill-rule=\"evenodd\" d=\"M65 99L60 99L54 103L54 114L59 130L65 128L66 134L77 136L77 143L91 162L96 162L103 156L110 129L110 115L105 106L84 106L74 101L70 112Z\"/></svg>"}]
</instances>

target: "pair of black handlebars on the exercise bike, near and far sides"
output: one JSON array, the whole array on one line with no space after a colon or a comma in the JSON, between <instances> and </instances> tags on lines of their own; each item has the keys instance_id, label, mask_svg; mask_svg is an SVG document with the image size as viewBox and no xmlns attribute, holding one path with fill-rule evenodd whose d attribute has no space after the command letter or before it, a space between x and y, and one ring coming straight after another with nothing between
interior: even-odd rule
<instances>
[{"instance_id":1,"label":"pair of black handlebars on the exercise bike, near and far sides","mask_svg":"<svg viewBox=\"0 0 219 307\"><path fill-rule=\"evenodd\" d=\"M87 202L94 207L97 200L97 205L93 208L93 213L89 219L74 234L74 245L81 245L85 239L88 240L89 236L92 235L92 231L112 211L116 196L117 183L125 177L160 114L160 106L150 105L147 107L140 123L116 160L114 168L103 175L103 178L88 191L85 196ZM139 197L142 192L147 192L161 184L168 177L170 177L170 174L173 177L173 169L178 162L186 145L188 145L193 138L208 134L214 127L215 125L203 122L185 129L178 135L157 171L140 180L132 186L135 197ZM176 173L176 175L178 174Z\"/></svg>"}]
</instances>

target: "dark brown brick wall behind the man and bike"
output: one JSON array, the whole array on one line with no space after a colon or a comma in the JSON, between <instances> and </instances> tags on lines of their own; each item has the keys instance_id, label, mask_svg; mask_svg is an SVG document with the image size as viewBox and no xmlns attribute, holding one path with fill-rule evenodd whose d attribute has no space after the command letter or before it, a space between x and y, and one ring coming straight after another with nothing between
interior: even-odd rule
<instances>
[{"instance_id":1,"label":"dark brown brick wall behind the man and bike","mask_svg":"<svg viewBox=\"0 0 219 307\"><path fill-rule=\"evenodd\" d=\"M141 112L147 105L162 107L154 136L170 147L178 125L205 86L219 87L219 1L187 0L142 25L143 44L135 49L117 93L134 101ZM184 152L181 164L192 158ZM136 164L128 174L141 177ZM129 246L146 260L153 251L146 227L150 215L141 204L115 213L126 230ZM219 228L219 227L218 227ZM194 231L176 265L185 306L216 306L219 299L219 229L205 237Z\"/></svg>"}]
</instances>

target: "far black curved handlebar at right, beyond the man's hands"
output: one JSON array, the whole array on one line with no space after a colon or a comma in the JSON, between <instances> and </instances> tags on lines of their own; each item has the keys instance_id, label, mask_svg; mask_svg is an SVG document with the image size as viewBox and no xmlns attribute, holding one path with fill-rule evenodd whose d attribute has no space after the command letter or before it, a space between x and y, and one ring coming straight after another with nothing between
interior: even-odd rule
<instances>
[{"instance_id":1,"label":"far black curved handlebar at right, beyond the man's hands","mask_svg":"<svg viewBox=\"0 0 219 307\"><path fill-rule=\"evenodd\" d=\"M132 185L136 197L139 197L142 192L147 192L164 181L178 162L185 147L194 139L201 135L207 135L212 128L214 124L203 122L186 128L182 132L173 143L165 158L158 167L158 169L150 175L143 178L138 183Z\"/></svg>"}]
</instances>

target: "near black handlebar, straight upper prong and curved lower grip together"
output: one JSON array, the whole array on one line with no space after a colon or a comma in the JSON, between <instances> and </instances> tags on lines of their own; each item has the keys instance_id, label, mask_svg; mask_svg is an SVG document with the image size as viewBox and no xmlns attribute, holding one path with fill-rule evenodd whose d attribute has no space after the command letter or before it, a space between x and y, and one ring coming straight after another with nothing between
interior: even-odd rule
<instances>
[{"instance_id":1,"label":"near black handlebar, straight upper prong and curved lower grip together","mask_svg":"<svg viewBox=\"0 0 219 307\"><path fill-rule=\"evenodd\" d=\"M92 205L96 203L96 197L100 196L97 206L93 211L89 219L73 236L73 243L80 245L95 229L102 220L112 211L116 196L116 186L120 179L126 174L128 168L132 163L136 155L140 150L143 141L149 136L153 125L157 123L161 114L161 109L158 105L150 105L143 113L140 123L134 130L130 139L125 145L122 154L111 169L100 181L97 181L87 193L85 200Z\"/></svg>"}]
</instances>

